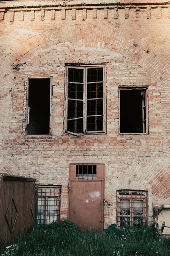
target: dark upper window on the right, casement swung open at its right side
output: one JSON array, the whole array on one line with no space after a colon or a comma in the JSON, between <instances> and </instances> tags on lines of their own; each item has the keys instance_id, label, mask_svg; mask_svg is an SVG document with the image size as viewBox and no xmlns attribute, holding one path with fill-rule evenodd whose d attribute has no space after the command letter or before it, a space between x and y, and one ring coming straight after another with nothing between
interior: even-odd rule
<instances>
[{"instance_id":1,"label":"dark upper window on the right, casement swung open at its right side","mask_svg":"<svg viewBox=\"0 0 170 256\"><path fill-rule=\"evenodd\" d=\"M119 132L148 134L147 88L119 88Z\"/></svg>"}]
</instances>

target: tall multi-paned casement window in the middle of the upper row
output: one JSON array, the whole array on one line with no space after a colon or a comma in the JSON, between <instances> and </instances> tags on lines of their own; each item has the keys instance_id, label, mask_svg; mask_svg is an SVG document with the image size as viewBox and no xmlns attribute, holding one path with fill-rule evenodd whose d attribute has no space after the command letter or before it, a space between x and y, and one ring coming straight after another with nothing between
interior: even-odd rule
<instances>
[{"instance_id":1,"label":"tall multi-paned casement window in the middle of the upper row","mask_svg":"<svg viewBox=\"0 0 170 256\"><path fill-rule=\"evenodd\" d=\"M65 132L105 132L105 66L66 66Z\"/></svg>"}]
</instances>

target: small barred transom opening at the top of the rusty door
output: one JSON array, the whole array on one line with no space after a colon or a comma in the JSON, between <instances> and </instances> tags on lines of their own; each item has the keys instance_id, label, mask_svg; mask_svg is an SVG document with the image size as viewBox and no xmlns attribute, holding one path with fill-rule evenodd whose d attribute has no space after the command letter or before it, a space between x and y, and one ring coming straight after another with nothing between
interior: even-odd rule
<instances>
[{"instance_id":1,"label":"small barred transom opening at the top of the rusty door","mask_svg":"<svg viewBox=\"0 0 170 256\"><path fill-rule=\"evenodd\" d=\"M77 165L76 166L76 177L78 179L94 179L97 177L97 166L96 165Z\"/></svg>"}]
</instances>

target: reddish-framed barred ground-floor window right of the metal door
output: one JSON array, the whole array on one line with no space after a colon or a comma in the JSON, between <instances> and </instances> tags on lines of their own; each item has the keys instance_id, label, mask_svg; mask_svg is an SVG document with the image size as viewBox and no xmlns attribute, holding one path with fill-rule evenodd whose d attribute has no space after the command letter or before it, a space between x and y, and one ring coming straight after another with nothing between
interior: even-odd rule
<instances>
[{"instance_id":1,"label":"reddish-framed barred ground-floor window right of the metal door","mask_svg":"<svg viewBox=\"0 0 170 256\"><path fill-rule=\"evenodd\" d=\"M147 225L147 192L117 191L117 224L119 229Z\"/></svg>"}]
</instances>

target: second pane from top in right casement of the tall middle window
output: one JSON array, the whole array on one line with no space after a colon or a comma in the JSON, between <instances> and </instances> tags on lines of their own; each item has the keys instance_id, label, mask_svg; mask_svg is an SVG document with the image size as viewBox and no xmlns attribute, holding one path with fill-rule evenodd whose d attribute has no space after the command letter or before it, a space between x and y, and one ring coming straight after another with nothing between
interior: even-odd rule
<instances>
[{"instance_id":1,"label":"second pane from top in right casement of the tall middle window","mask_svg":"<svg viewBox=\"0 0 170 256\"><path fill-rule=\"evenodd\" d=\"M87 98L95 99L103 97L103 83L87 84Z\"/></svg>"}]
</instances>

